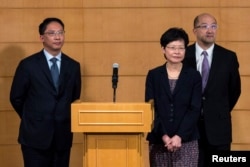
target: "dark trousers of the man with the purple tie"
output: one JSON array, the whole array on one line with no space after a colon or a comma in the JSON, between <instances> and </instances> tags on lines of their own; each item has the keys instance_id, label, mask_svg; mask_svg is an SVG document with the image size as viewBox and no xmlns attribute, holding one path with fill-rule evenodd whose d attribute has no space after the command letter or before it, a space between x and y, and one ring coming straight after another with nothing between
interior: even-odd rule
<instances>
[{"instance_id":1,"label":"dark trousers of the man with the purple tie","mask_svg":"<svg viewBox=\"0 0 250 167\"><path fill-rule=\"evenodd\" d=\"M209 144L206 136L204 121L200 120L198 123L200 139L198 140L199 145L199 159L198 159L198 167L207 167L209 161L211 161L212 152L216 151L230 151L231 144L224 145L211 145Z\"/></svg>"}]
</instances>

